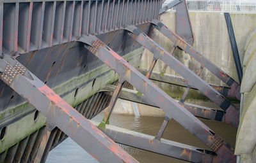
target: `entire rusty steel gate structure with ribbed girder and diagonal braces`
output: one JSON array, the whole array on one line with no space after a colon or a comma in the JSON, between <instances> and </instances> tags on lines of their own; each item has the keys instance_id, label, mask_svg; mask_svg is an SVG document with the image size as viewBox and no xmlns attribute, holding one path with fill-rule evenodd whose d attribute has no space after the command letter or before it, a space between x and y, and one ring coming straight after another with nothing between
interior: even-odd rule
<instances>
[{"instance_id":1,"label":"entire rusty steel gate structure with ribbed girder and diagonal braces","mask_svg":"<svg viewBox=\"0 0 256 163\"><path fill-rule=\"evenodd\" d=\"M0 2L0 162L45 162L67 136L99 162L137 162L115 142L191 162L236 162L234 149L196 117L237 127L239 110L225 96L240 99L240 85L190 45L193 36L159 22L160 8L157 0ZM150 38L154 28L199 62L198 73ZM148 71L138 69L143 47L154 55ZM157 60L182 77L152 73ZM204 68L228 87L202 80ZM187 89L175 101L152 80ZM184 103L189 89L221 110ZM118 97L165 111L156 137L108 125ZM100 124L88 120L105 108ZM171 118L209 150L162 139Z\"/></svg>"}]
</instances>

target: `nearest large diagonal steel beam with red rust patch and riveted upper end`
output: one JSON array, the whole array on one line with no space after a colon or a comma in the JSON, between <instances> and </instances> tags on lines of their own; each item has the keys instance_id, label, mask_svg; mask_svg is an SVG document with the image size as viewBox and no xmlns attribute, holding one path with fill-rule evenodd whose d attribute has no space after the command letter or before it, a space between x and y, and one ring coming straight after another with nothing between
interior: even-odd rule
<instances>
[{"instance_id":1,"label":"nearest large diagonal steel beam with red rust patch and riveted upper end","mask_svg":"<svg viewBox=\"0 0 256 163\"><path fill-rule=\"evenodd\" d=\"M0 72L4 83L99 162L138 162L10 55L1 57Z\"/></svg>"}]
</instances>

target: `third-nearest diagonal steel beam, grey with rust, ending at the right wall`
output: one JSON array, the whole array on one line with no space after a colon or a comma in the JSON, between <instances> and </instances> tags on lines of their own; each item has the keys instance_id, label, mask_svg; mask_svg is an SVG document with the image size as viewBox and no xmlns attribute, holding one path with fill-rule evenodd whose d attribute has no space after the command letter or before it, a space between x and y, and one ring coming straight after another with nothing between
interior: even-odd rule
<instances>
[{"instance_id":1,"label":"third-nearest diagonal steel beam, grey with rust, ending at the right wall","mask_svg":"<svg viewBox=\"0 0 256 163\"><path fill-rule=\"evenodd\" d=\"M196 89L200 90L202 94L211 99L212 102L220 106L221 109L226 111L224 118L225 122L238 127L239 124L239 109L230 103L228 99L222 96L219 92L212 89L212 87L206 83L202 78L197 76L188 67L184 66L182 62L176 59L173 55L168 53L164 48L157 45L151 38L149 38L145 33L134 25L128 25L125 27L132 38L134 38L138 43L145 46L150 52L153 53L156 59L161 59L165 64L171 67L175 72L179 73L180 76L184 77L188 81L188 85L193 85Z\"/></svg>"}]
</instances>

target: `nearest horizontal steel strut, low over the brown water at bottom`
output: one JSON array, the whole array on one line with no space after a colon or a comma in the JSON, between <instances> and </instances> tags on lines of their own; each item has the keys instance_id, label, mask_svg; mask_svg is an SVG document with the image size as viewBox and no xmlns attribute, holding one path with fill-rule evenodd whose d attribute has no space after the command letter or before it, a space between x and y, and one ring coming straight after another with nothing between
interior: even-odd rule
<instances>
[{"instance_id":1,"label":"nearest horizontal steel strut, low over the brown water at bottom","mask_svg":"<svg viewBox=\"0 0 256 163\"><path fill-rule=\"evenodd\" d=\"M99 122L90 120L92 124L99 125ZM102 131L116 143L133 146L161 155L175 157L189 162L213 162L216 153L194 146L184 145L167 139L155 139L154 136L129 131L113 125L106 125Z\"/></svg>"}]
</instances>

